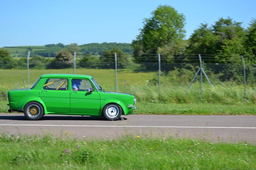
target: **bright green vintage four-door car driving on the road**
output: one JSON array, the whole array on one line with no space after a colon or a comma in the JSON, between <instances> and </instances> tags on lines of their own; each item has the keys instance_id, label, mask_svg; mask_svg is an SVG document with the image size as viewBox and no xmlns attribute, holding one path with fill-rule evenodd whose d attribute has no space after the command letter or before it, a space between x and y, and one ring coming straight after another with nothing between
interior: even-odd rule
<instances>
[{"instance_id":1,"label":"bright green vintage four-door car driving on the road","mask_svg":"<svg viewBox=\"0 0 256 170\"><path fill-rule=\"evenodd\" d=\"M45 74L29 89L8 91L9 113L22 112L29 120L46 114L104 116L118 120L136 109L132 94L105 92L91 76Z\"/></svg>"}]
</instances>

